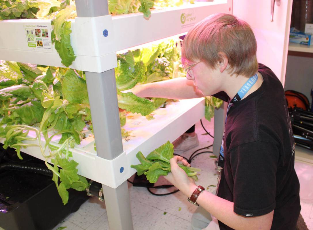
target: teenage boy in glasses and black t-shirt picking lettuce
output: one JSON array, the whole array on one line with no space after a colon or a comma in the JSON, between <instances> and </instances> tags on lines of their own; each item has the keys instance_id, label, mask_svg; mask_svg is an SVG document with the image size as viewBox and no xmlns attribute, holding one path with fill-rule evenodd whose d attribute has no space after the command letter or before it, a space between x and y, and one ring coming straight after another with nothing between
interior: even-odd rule
<instances>
[{"instance_id":1,"label":"teenage boy in glasses and black t-shirt picking lettuce","mask_svg":"<svg viewBox=\"0 0 313 230\"><path fill-rule=\"evenodd\" d=\"M165 178L216 217L206 229L295 229L300 213L294 140L279 79L256 59L250 26L215 14L192 28L182 44L187 78L139 85L141 97L214 95L228 102L217 195L203 190L171 159Z\"/></svg>"}]
</instances>

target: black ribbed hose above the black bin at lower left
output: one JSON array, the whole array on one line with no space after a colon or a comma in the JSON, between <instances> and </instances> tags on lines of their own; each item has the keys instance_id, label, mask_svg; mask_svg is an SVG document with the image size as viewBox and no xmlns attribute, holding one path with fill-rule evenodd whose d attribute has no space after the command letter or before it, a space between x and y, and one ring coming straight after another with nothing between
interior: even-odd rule
<instances>
[{"instance_id":1,"label":"black ribbed hose above the black bin at lower left","mask_svg":"<svg viewBox=\"0 0 313 230\"><path fill-rule=\"evenodd\" d=\"M18 162L10 162L10 163L3 163L0 165L0 173L5 170L17 170L17 171L24 171L24 172L34 172L44 176L53 176L53 172L47 168L43 168L42 165L38 164L24 164Z\"/></svg>"}]
</instances>

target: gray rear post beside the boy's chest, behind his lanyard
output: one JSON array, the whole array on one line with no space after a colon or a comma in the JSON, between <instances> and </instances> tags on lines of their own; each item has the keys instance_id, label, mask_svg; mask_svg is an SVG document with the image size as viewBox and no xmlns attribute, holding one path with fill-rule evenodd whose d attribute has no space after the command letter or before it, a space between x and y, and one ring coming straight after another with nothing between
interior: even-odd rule
<instances>
[{"instance_id":1,"label":"gray rear post beside the boy's chest, behind his lanyard","mask_svg":"<svg viewBox=\"0 0 313 230\"><path fill-rule=\"evenodd\" d=\"M213 141L213 154L219 156L219 151L222 144L224 126L225 126L225 116L227 111L227 103L214 110L214 141Z\"/></svg>"}]
</instances>

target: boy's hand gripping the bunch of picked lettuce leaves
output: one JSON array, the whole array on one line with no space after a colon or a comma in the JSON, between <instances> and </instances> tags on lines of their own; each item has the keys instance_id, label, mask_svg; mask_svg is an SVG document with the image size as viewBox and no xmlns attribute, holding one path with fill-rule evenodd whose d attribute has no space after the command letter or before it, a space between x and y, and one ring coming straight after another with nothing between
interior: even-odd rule
<instances>
[{"instance_id":1,"label":"boy's hand gripping the bunch of picked lettuce leaves","mask_svg":"<svg viewBox=\"0 0 313 230\"><path fill-rule=\"evenodd\" d=\"M178 166L177 162L181 161L183 165L190 167L190 164L182 156L174 156L171 160L171 172L164 176L167 181L171 182L177 189L182 191L187 197L197 188L193 179L187 176L186 172Z\"/></svg>"}]
</instances>

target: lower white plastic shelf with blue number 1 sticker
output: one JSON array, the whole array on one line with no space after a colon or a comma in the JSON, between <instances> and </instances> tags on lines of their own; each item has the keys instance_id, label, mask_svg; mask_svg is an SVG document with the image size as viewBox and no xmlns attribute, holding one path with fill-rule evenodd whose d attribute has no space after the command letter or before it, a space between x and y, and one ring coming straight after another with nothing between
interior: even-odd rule
<instances>
[{"instance_id":1,"label":"lower white plastic shelf with blue number 1 sticker","mask_svg":"<svg viewBox=\"0 0 313 230\"><path fill-rule=\"evenodd\" d=\"M127 139L128 141L123 140L124 152L111 161L97 156L94 149L95 139L88 130L85 130L87 138L69 151L72 152L74 161L79 163L77 168L80 175L116 188L136 172L130 165L139 164L136 158L138 151L147 156L165 142L174 141L203 118L204 109L204 99L197 98L171 102L166 108L158 108L154 112L153 120L147 120L138 114L128 114L123 128L131 131L131 136L129 140ZM30 132L29 136L35 137L35 133ZM50 144L60 146L58 144L60 138L61 136L55 136ZM4 139L0 141L3 143ZM44 138L42 138L42 145L44 144ZM36 158L45 159L38 147L22 148L21 151ZM123 167L122 172L121 167Z\"/></svg>"}]
</instances>

